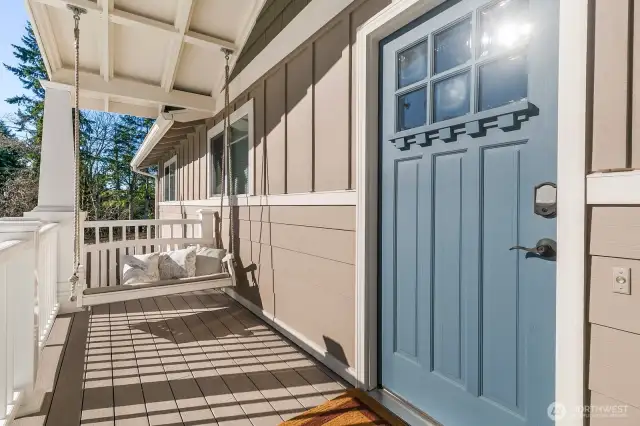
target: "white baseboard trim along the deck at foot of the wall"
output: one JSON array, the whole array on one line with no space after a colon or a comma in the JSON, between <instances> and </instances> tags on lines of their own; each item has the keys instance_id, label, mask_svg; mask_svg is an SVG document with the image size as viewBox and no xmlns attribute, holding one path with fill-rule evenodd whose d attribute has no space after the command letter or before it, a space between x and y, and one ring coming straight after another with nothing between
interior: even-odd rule
<instances>
[{"instance_id":1,"label":"white baseboard trim along the deck at foot of the wall","mask_svg":"<svg viewBox=\"0 0 640 426\"><path fill-rule=\"evenodd\" d=\"M227 287L221 290L229 295L229 297L231 297L233 300L250 310L254 315L266 322L269 326L276 329L287 339L300 346L305 352L323 363L331 371L333 371L352 385L356 385L355 370L352 367L344 365L342 362L338 361L336 357L321 348L318 344L307 339L302 333L277 319L273 314L258 308L256 305L238 294L238 292L236 292L234 289Z\"/></svg>"}]
</instances>

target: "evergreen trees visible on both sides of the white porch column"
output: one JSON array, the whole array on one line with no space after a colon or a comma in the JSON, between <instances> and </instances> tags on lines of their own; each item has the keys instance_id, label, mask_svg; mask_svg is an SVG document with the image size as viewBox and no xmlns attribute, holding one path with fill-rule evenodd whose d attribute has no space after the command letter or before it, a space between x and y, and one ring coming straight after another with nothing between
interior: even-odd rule
<instances>
[{"instance_id":1,"label":"evergreen trees visible on both sides of the white porch column","mask_svg":"<svg viewBox=\"0 0 640 426\"><path fill-rule=\"evenodd\" d=\"M45 95L40 80L48 79L29 23L21 44L12 46L17 65L4 66L25 93L6 100L17 107L11 124L19 137L0 121L0 217L20 216L37 203ZM151 125L144 118L80 112L80 206L89 219L153 217L154 188L129 168Z\"/></svg>"}]
</instances>

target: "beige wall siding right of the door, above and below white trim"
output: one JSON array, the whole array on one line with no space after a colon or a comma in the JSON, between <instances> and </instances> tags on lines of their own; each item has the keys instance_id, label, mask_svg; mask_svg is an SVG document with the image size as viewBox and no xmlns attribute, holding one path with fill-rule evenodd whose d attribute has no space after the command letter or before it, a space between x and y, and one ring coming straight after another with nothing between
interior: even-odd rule
<instances>
[{"instance_id":1,"label":"beige wall siding right of the door, above and below white trim","mask_svg":"<svg viewBox=\"0 0 640 426\"><path fill-rule=\"evenodd\" d=\"M638 168L640 4L635 0L596 0L593 16L593 133L587 168L591 172ZM590 404L603 409L628 406L624 416L594 416L590 424L637 425L640 424L640 278L636 277L640 277L640 207L598 205L587 211ZM630 268L631 295L613 292L614 267Z\"/></svg>"}]
</instances>

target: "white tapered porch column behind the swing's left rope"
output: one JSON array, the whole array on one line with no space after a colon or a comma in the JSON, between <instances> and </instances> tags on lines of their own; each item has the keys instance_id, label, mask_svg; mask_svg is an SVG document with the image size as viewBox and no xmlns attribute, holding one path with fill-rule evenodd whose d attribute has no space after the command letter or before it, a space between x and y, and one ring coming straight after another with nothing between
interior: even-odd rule
<instances>
[{"instance_id":1,"label":"white tapered porch column behind the swing's left rope","mask_svg":"<svg viewBox=\"0 0 640 426\"><path fill-rule=\"evenodd\" d=\"M38 206L25 217L60 224L58 234L58 302L68 312L69 277L73 273L73 192L75 154L71 88L41 80L45 89Z\"/></svg>"}]
</instances>

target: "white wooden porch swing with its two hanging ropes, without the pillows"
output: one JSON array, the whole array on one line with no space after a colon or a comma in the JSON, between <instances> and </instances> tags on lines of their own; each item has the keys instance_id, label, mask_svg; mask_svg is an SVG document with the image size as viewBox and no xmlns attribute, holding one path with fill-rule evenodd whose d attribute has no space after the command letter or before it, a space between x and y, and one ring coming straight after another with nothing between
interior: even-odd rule
<instances>
[{"instance_id":1,"label":"white wooden porch swing with its two hanging ropes, without the pillows","mask_svg":"<svg viewBox=\"0 0 640 426\"><path fill-rule=\"evenodd\" d=\"M100 279L96 276L93 276L91 285L88 285L86 270L84 265L81 263L81 257L83 257L83 262L87 261L87 254L91 254L91 256L100 256L102 254L106 254L110 251L109 256L112 263L112 271L115 270L115 262L113 261L116 257L117 250L120 251L120 257L122 258L123 251L125 250L125 245L127 241L126 236L126 226L122 225L122 241L115 242L110 241L106 243L102 243L100 241L99 236L99 228L96 227L96 239L95 244L85 245L84 244L84 229L81 229L80 225L80 205L79 205L79 176L80 176L80 123L79 123L79 95L80 95L80 87L79 87L79 56L80 56L80 16L86 13L86 10L79 8L77 6L68 5L68 8L73 12L73 19L75 22L74 27L74 42L75 42L75 114L74 114L74 152L75 152L75 167L74 167L74 237L73 237L73 274L69 278L70 283L70 301L76 302L76 305L79 308L91 307L95 305L114 303L114 302L123 302L127 300L135 300L139 298L145 297L156 297L156 296L167 296L179 293L185 293L190 291L198 291L198 290L206 290L213 288L224 288L235 285L235 264L234 264L234 256L233 253L235 251L235 227L234 227L234 209L229 206L229 219L230 219L230 227L229 227L229 244L228 244L228 253L221 259L220 262L220 273L212 273L203 276L194 276L189 278L178 278L178 279L169 279L169 280L160 280L160 281L149 281L149 282L136 282L134 284L117 284L116 280L111 280L112 285L103 286L104 282L100 281ZM231 176L231 167L232 163L230 161L230 148L229 148L229 138L227 137L230 131L230 122L229 122L229 56L231 54L231 50L222 49L225 54L225 108L224 108L224 132L225 132L225 144L222 154L222 175L225 176L225 172L229 171L229 176ZM204 222L201 222L200 229L200 237L197 238L174 238L173 236L173 228L171 229L170 238L157 238L157 239L148 239L145 240L145 244L149 246L149 248L154 247L155 249L162 247L185 247L187 244L207 247L216 243L215 245L218 248L222 248L222 212L224 208L224 195L225 190L227 194L231 194L231 179L225 179L226 184L222 185L222 194L220 197L220 216L215 221L215 230L213 232L214 235L203 235L205 229L211 229L208 226L204 226ZM159 221L164 223L163 221ZM136 226L136 238L138 235L138 225ZM84 227L82 227L84 228ZM110 230L110 235L112 236L112 229ZM148 235L151 234L151 226L147 227ZM158 236L158 224L156 224L156 237ZM220 238L217 238L220 236ZM110 238L112 240L112 238ZM82 247L85 247L85 252L81 250ZM126 249L128 250L128 248ZM104 257L106 259L106 255ZM106 263L106 262L105 262ZM97 264L97 262L96 262ZM120 268L117 268L120 269ZM118 273L120 273L118 271ZM95 279L95 281L94 281ZM96 283L96 281L100 281ZM105 280L106 281L106 280ZM120 277L120 281L122 281ZM115 284L115 285L113 285Z\"/></svg>"}]
</instances>

